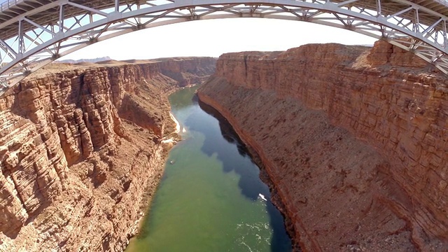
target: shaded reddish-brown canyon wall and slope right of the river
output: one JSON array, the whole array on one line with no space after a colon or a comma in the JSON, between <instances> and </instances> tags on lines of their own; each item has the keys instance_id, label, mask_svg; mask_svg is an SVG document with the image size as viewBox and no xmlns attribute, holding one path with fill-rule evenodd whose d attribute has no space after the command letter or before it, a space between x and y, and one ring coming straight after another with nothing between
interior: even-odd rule
<instances>
[{"instance_id":1,"label":"shaded reddish-brown canyon wall and slope right of the river","mask_svg":"<svg viewBox=\"0 0 448 252\"><path fill-rule=\"evenodd\" d=\"M448 251L448 78L383 41L222 55L199 90L303 251Z\"/></svg>"}]
</instances>

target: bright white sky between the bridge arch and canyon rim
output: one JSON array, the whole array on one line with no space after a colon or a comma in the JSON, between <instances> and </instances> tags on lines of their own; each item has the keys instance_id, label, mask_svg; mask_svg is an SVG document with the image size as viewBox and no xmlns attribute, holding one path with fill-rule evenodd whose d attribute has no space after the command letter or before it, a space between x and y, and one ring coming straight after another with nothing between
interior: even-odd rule
<instances>
[{"instance_id":1,"label":"bright white sky between the bridge arch and canyon rim","mask_svg":"<svg viewBox=\"0 0 448 252\"><path fill-rule=\"evenodd\" d=\"M111 38L61 59L109 56L113 59L153 59L212 56L244 50L286 50L307 43L368 45L374 38L353 31L307 22L263 18L199 20L154 27Z\"/></svg>"}]
</instances>

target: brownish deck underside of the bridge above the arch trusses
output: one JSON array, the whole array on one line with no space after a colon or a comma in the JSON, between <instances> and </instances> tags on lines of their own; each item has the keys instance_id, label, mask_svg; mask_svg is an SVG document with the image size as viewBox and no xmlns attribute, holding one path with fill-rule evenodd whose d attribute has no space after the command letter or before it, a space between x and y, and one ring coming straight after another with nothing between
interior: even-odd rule
<instances>
[{"instance_id":1,"label":"brownish deck underside of the bridge above the arch trusses","mask_svg":"<svg viewBox=\"0 0 448 252\"><path fill-rule=\"evenodd\" d=\"M335 0L332 2L335 3L342 3L345 0ZM18 3L15 6L9 6L6 10L3 10L0 12L0 27L1 24L4 22L7 22L8 20L11 20L19 15L22 15L24 13L27 13L29 10L34 10L36 8L45 6L49 3L53 3L55 1L52 0L23 0L22 2ZM79 3L83 6L87 6L94 9L106 9L106 8L113 8L114 7L114 1L113 0L90 0L90 1L83 1L83 0L73 0L71 1L73 3ZM120 0L120 4L126 4L134 1L125 1ZM291 1L291 4L293 4L295 1ZM297 1L298 2L298 1ZM419 6L423 6L425 8L428 8L430 10L435 11L436 13L440 13L444 16L448 16L448 3L444 2L444 0L435 1L435 0L412 0L413 3L418 4ZM244 1L241 1L241 3L244 3ZM366 8L371 10L377 9L377 1L376 0L359 0L355 1L353 3L350 3L349 5L346 5L347 7L350 6L356 6L358 8ZM408 8L409 5L406 5L404 3L401 3L400 1L391 1L391 0L382 0L381 1L381 11L383 15L392 15L394 13L398 13L400 10L404 10L405 8ZM65 17L73 17L76 15L83 15L85 13L85 10L81 10L80 8L76 8L74 6L65 6L64 7L64 16ZM413 20L414 15L412 13L403 13L400 15L401 18L406 18L408 20ZM53 8L48 8L43 11L39 11L38 13L35 13L33 15L27 15L27 19L39 24L39 25L48 25L48 24L55 24L59 20L59 7L55 6ZM423 25L433 25L435 22L437 22L439 18L437 16L432 15L430 13L425 13L424 11L421 11L419 13L419 22ZM35 27L27 22L22 24L23 31L29 31L31 29L34 29ZM438 26L438 29L442 29L441 25ZM0 28L0 38L3 40L7 40L9 38L13 38L17 36L18 34L18 22L12 22L10 25L7 25L6 27Z\"/></svg>"}]
</instances>

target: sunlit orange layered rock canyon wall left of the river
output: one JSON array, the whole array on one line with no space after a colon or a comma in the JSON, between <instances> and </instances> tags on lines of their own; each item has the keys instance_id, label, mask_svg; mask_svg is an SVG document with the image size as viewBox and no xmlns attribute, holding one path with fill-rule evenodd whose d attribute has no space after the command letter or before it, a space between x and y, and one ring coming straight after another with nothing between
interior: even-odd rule
<instances>
[{"instance_id":1,"label":"sunlit orange layered rock canyon wall left of the river","mask_svg":"<svg viewBox=\"0 0 448 252\"><path fill-rule=\"evenodd\" d=\"M167 94L215 62L52 64L0 97L0 251L123 251L176 137Z\"/></svg>"}]
</instances>

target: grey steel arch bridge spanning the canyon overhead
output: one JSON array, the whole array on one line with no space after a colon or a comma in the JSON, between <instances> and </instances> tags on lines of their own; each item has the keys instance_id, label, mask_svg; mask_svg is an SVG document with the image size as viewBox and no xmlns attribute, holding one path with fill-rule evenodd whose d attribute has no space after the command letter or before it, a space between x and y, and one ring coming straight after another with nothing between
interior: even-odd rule
<instances>
[{"instance_id":1,"label":"grey steel arch bridge spanning the canyon overhead","mask_svg":"<svg viewBox=\"0 0 448 252\"><path fill-rule=\"evenodd\" d=\"M92 43L218 18L276 18L349 29L414 52L448 74L445 0L8 0L0 6L0 95L29 73Z\"/></svg>"}]
</instances>

